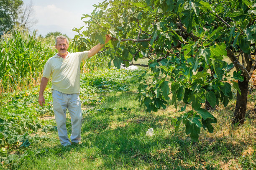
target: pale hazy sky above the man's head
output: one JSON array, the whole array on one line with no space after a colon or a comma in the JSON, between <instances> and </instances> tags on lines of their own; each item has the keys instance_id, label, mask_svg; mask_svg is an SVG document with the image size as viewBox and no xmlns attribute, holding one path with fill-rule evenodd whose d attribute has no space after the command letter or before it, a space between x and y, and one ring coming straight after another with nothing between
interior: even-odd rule
<instances>
[{"instance_id":1,"label":"pale hazy sky above the man's head","mask_svg":"<svg viewBox=\"0 0 256 170\"><path fill-rule=\"evenodd\" d=\"M85 26L82 14L91 14L95 9L92 5L104 0L32 0L34 18L37 23L31 27L38 35L46 36L49 32L59 31L73 38L73 28ZM31 0L23 0L28 5Z\"/></svg>"}]
</instances>

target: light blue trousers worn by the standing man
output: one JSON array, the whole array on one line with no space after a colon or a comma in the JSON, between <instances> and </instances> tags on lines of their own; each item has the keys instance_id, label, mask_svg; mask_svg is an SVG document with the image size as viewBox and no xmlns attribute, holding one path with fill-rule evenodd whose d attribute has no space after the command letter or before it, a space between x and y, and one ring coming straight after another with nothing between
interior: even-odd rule
<instances>
[{"instance_id":1,"label":"light blue trousers worn by the standing man","mask_svg":"<svg viewBox=\"0 0 256 170\"><path fill-rule=\"evenodd\" d=\"M71 142L81 141L82 109L79 94L65 94L52 90L54 116L58 127L59 140L61 145L67 146L71 143L67 135L66 112L69 110L71 117L72 133Z\"/></svg>"}]
</instances>

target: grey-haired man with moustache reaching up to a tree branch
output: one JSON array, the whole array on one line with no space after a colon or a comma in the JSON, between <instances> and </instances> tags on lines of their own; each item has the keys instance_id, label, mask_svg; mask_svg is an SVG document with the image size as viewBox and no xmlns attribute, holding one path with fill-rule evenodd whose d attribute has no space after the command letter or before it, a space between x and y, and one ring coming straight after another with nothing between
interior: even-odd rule
<instances>
[{"instance_id":1,"label":"grey-haired man with moustache reaching up to a tree branch","mask_svg":"<svg viewBox=\"0 0 256 170\"><path fill-rule=\"evenodd\" d=\"M111 36L106 35L105 44ZM38 102L41 106L45 104L44 90L50 76L52 76L52 99L54 116L58 127L59 140L61 145L68 146L81 141L82 109L79 99L80 89L80 63L91 56L94 56L105 44L97 44L90 51L69 53L69 41L65 36L57 36L55 47L58 53L49 58L44 66L41 79ZM72 134L71 142L67 136L66 111L69 110Z\"/></svg>"}]
</instances>

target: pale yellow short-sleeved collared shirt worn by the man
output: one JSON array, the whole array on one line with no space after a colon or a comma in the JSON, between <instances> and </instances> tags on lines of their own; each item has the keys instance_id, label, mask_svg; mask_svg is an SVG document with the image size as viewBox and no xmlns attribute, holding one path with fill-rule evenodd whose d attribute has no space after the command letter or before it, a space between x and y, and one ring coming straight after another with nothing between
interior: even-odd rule
<instances>
[{"instance_id":1,"label":"pale yellow short-sleeved collared shirt worn by the man","mask_svg":"<svg viewBox=\"0 0 256 170\"><path fill-rule=\"evenodd\" d=\"M51 89L74 94L80 90L80 64L88 58L88 51L69 53L66 58L55 54L46 62L43 76L51 80Z\"/></svg>"}]
</instances>

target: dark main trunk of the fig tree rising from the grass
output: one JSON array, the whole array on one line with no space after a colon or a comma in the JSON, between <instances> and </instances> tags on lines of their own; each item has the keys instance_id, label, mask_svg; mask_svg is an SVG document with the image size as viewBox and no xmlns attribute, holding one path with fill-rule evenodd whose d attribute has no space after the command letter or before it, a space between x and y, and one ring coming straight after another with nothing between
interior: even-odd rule
<instances>
[{"instance_id":1,"label":"dark main trunk of the fig tree rising from the grass","mask_svg":"<svg viewBox=\"0 0 256 170\"><path fill-rule=\"evenodd\" d=\"M244 78L244 81L238 81L239 89L241 90L241 95L237 92L236 97L236 109L234 112L234 118L232 124L238 123L243 124L245 121L246 106L247 106L247 94L248 94L248 84L249 81Z\"/></svg>"}]
</instances>

